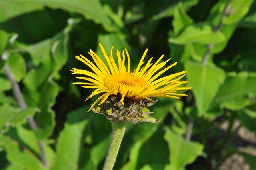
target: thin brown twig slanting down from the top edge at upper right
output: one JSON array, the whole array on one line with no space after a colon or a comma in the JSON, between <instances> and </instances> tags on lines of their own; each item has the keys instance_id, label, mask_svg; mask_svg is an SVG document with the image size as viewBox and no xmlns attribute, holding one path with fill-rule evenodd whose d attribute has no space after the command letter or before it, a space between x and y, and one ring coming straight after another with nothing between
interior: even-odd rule
<instances>
[{"instance_id":1,"label":"thin brown twig slanting down from the top edge at upper right","mask_svg":"<svg viewBox=\"0 0 256 170\"><path fill-rule=\"evenodd\" d=\"M221 15L221 18L220 18L220 22L218 23L218 25L214 28L214 32L218 32L220 30L220 28L222 27L223 25L223 18L228 14L228 4L229 4L229 0L227 1L226 3L226 6L222 12L222 15ZM207 47L207 50L204 54L204 59L202 61L202 65L205 66L205 64L207 63L208 59L209 59L209 56L210 56L210 51L213 47L213 44L209 44L208 47Z\"/></svg>"}]
</instances>

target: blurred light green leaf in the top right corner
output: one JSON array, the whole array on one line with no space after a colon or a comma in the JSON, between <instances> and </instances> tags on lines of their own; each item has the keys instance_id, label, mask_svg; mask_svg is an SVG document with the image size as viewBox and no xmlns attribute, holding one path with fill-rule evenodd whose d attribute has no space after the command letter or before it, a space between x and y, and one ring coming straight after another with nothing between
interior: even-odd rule
<instances>
[{"instance_id":1,"label":"blurred light green leaf in the top right corner","mask_svg":"<svg viewBox=\"0 0 256 170\"><path fill-rule=\"evenodd\" d=\"M232 0L228 5L228 15L223 18L223 24L234 24L241 20L249 11L253 0Z\"/></svg>"}]
</instances>

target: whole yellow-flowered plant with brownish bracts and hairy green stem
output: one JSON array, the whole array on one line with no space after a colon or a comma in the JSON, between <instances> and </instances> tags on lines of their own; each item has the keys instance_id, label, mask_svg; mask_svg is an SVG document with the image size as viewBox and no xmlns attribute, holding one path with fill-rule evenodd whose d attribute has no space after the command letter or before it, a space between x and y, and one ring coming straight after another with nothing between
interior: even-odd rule
<instances>
[{"instance_id":1,"label":"whole yellow-flowered plant with brownish bracts and hairy green stem","mask_svg":"<svg viewBox=\"0 0 256 170\"><path fill-rule=\"evenodd\" d=\"M181 80L186 71L160 78L164 72L177 64L177 62L174 62L170 66L164 67L170 60L161 62L164 55L154 63L152 63L153 58L150 58L144 64L148 51L146 49L138 66L135 70L131 70L130 56L126 48L122 51L122 56L119 50L116 50L118 59L118 64L116 64L113 55L114 46L111 48L110 55L108 55L104 47L100 43L99 45L107 64L95 52L90 50L88 53L94 63L83 55L75 57L86 64L91 71L73 68L71 74L83 75L82 77L76 77L79 80L84 80L83 82L75 82L73 84L82 85L83 88L96 89L85 99L88 100L95 95L99 96L88 112L92 110L95 113L103 114L108 120L112 121L112 142L104 164L105 170L112 170L124 136L125 122L159 122L159 120L149 116L153 112L150 112L148 107L157 102L153 98L180 99L180 96L187 95L179 94L177 91L188 90L191 87L180 87L180 85L188 82Z\"/></svg>"}]
</instances>

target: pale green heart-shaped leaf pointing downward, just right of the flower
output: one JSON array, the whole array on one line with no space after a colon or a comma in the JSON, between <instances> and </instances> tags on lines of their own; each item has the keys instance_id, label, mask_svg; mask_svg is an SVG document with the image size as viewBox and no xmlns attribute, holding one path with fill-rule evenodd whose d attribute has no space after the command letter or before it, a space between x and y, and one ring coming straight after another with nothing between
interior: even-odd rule
<instances>
[{"instance_id":1,"label":"pale green heart-shaped leaf pointing downward, just right of the flower","mask_svg":"<svg viewBox=\"0 0 256 170\"><path fill-rule=\"evenodd\" d=\"M192 87L199 115L202 116L224 82L225 72L213 64L203 66L193 61L186 62L184 66L188 70L189 86Z\"/></svg>"}]
</instances>

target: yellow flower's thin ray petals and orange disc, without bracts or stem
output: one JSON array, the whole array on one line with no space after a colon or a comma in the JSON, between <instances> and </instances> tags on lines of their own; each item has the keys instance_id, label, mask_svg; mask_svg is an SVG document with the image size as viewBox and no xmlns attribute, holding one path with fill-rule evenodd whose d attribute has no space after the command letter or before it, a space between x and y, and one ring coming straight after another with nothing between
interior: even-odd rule
<instances>
[{"instance_id":1,"label":"yellow flower's thin ray petals and orange disc, without bracts or stem","mask_svg":"<svg viewBox=\"0 0 256 170\"><path fill-rule=\"evenodd\" d=\"M178 94L177 90L187 90L191 87L179 87L181 84L185 84L188 81L180 81L181 78L185 76L186 71L178 72L162 78L158 78L161 74L166 72L166 70L175 66L177 62L174 62L170 66L163 68L166 63L160 62L164 55L162 55L154 64L151 63L153 58L150 58L146 65L144 64L144 58L148 49L145 50L137 68L134 71L130 70L130 56L127 49L121 53L116 50L116 56L118 58L118 65L116 65L113 58L113 48L111 48L110 56L106 53L103 46L99 43L102 53L106 59L108 66L102 61L102 59L95 54L92 50L88 52L94 63L92 63L88 58L80 55L75 56L78 60L86 64L91 71L81 70L73 68L71 70L72 74L83 74L86 77L76 77L77 79L86 80L87 82L75 82L74 84L80 84L83 88L95 88L86 98L88 100L96 94L101 94L101 96L92 104L90 111L98 102L98 105L106 101L108 96L117 95L118 93L122 96L120 102L124 104L124 97L132 98L135 101L146 99L152 101L152 97L168 97L180 99L178 96L187 96L186 94ZM125 56L126 55L126 56ZM127 57L127 67L125 65ZM142 66L144 64L144 66Z\"/></svg>"}]
</instances>

